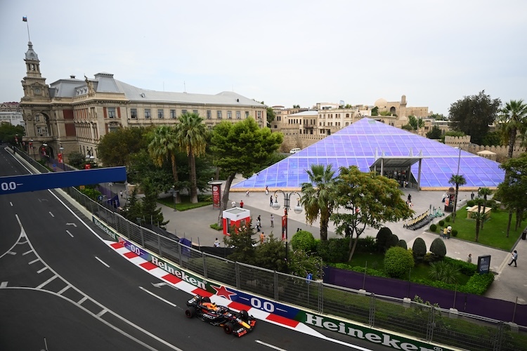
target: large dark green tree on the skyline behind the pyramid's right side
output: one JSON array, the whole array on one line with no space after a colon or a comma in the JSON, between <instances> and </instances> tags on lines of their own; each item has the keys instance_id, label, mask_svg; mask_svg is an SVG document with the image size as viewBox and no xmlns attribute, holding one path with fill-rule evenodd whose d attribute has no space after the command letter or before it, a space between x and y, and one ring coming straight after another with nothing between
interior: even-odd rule
<instances>
[{"instance_id":1,"label":"large dark green tree on the skyline behind the pyramid's right side","mask_svg":"<svg viewBox=\"0 0 527 351\"><path fill-rule=\"evenodd\" d=\"M478 95L464 96L448 109L450 122L448 126L453 131L462 131L471 136L472 143L481 145L483 137L488 133L500 108L500 99L491 99L485 91Z\"/></svg>"}]
</instances>

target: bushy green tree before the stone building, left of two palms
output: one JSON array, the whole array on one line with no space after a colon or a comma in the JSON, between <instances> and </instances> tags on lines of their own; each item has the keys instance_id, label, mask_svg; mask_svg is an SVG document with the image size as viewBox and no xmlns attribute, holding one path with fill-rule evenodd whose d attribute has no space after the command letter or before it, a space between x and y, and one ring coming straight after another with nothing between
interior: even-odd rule
<instances>
[{"instance_id":1,"label":"bushy green tree before the stone building, left of two palms","mask_svg":"<svg viewBox=\"0 0 527 351\"><path fill-rule=\"evenodd\" d=\"M151 128L118 128L103 135L97 156L106 167L128 166L131 154L146 147L145 135Z\"/></svg>"}]
</instances>

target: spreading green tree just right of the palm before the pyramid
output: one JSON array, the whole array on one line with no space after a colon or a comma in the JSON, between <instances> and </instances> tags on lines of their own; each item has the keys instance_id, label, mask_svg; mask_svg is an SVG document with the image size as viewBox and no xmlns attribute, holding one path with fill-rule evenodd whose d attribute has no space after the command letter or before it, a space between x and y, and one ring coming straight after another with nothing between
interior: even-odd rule
<instances>
[{"instance_id":1,"label":"spreading green tree just right of the palm before the pyramid","mask_svg":"<svg viewBox=\"0 0 527 351\"><path fill-rule=\"evenodd\" d=\"M366 226L379 229L386 222L397 222L412 216L414 211L403 200L403 192L396 180L375 172L363 173L357 166L341 167L335 183L335 204L344 209L334 213L331 220L337 233L349 232L349 258L355 252L358 238ZM353 242L353 244L352 244Z\"/></svg>"}]
</instances>

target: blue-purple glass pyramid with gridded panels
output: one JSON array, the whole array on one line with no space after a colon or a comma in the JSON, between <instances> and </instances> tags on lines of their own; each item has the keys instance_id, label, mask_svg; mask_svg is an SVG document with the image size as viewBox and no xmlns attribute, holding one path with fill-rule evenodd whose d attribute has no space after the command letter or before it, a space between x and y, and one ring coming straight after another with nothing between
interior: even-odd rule
<instances>
[{"instance_id":1,"label":"blue-purple glass pyramid with gridded panels","mask_svg":"<svg viewBox=\"0 0 527 351\"><path fill-rule=\"evenodd\" d=\"M505 172L495 161L363 118L233 185L233 189L263 189L268 186L299 190L302 183L308 182L306 170L311 164L332 164L337 173L342 166L358 166L360 171L368 172L380 157L417 155L422 157L419 180L424 190L451 187L448 180L457 174L458 162L459 174L467 180L464 187L496 187L505 178ZM379 167L377 171L380 171ZM419 163L415 163L411 166L410 180L417 181L418 173Z\"/></svg>"}]
</instances>

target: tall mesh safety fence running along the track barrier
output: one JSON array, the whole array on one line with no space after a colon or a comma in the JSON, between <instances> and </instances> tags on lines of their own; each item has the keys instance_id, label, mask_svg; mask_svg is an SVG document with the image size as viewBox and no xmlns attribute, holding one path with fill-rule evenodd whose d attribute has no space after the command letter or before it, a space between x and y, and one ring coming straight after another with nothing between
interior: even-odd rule
<instances>
[{"instance_id":1,"label":"tall mesh safety fence running along the track barrier","mask_svg":"<svg viewBox=\"0 0 527 351\"><path fill-rule=\"evenodd\" d=\"M20 152L41 172L41 166ZM183 245L98 204L74 187L63 189L75 201L105 222L108 227L155 253L205 279L235 286L279 303L303 307L320 314L350 319L364 326L396 331L429 343L451 345L465 350L525 350L527 327L463 312L446 310L408 299L379 296L305 277L266 270L212 256Z\"/></svg>"}]
</instances>

